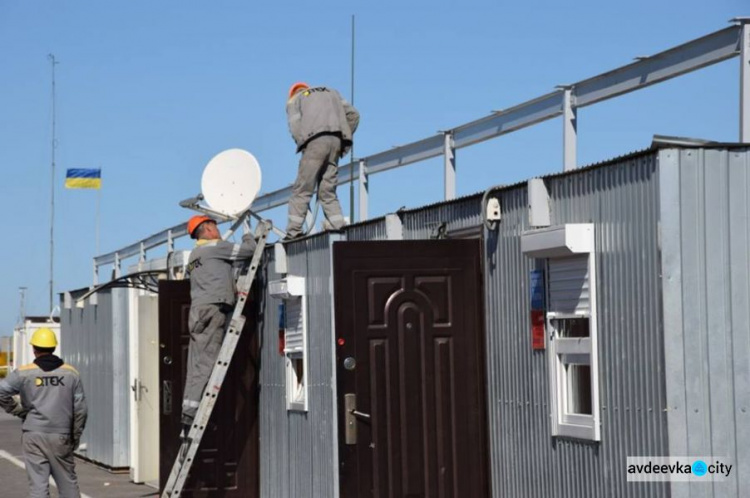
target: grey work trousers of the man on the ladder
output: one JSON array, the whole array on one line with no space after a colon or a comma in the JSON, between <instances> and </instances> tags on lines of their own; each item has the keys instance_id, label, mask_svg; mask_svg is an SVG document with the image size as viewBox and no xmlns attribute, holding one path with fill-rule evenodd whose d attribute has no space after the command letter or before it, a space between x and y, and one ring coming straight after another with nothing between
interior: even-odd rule
<instances>
[{"instance_id":1,"label":"grey work trousers of the man on the ladder","mask_svg":"<svg viewBox=\"0 0 750 498\"><path fill-rule=\"evenodd\" d=\"M219 356L232 310L226 305L201 304L190 307L187 377L182 397L182 423L192 424L203 391Z\"/></svg>"}]
</instances>

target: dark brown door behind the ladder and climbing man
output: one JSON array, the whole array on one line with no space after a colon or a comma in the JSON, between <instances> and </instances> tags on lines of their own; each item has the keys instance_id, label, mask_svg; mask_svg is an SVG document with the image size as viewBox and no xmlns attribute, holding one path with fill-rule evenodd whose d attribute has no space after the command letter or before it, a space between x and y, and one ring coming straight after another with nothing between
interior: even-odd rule
<instances>
[{"instance_id":1,"label":"dark brown door behind the ladder and climbing man","mask_svg":"<svg viewBox=\"0 0 750 498\"><path fill-rule=\"evenodd\" d=\"M251 299L247 322L203 436L184 497L260 496L258 340ZM190 283L159 282L160 472L164 489L180 447L180 411L190 342Z\"/></svg>"}]
</instances>

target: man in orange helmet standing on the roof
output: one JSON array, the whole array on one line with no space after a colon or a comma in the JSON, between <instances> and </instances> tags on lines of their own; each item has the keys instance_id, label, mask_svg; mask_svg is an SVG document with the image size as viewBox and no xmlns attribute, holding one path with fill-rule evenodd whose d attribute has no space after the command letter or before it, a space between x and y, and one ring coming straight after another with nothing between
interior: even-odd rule
<instances>
[{"instance_id":1,"label":"man in orange helmet standing on the roof","mask_svg":"<svg viewBox=\"0 0 750 498\"><path fill-rule=\"evenodd\" d=\"M289 89L286 114L297 152L302 152L289 199L286 240L302 234L302 223L316 186L328 225L341 229L344 216L336 197L338 163L352 146L359 112L332 88L295 83Z\"/></svg>"}]
</instances>

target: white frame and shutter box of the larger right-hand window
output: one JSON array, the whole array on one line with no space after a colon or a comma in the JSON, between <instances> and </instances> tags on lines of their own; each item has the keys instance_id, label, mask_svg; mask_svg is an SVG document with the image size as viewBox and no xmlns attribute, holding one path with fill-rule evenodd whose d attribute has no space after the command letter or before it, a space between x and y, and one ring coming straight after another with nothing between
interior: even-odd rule
<instances>
[{"instance_id":1,"label":"white frame and shutter box of the larger right-hand window","mask_svg":"<svg viewBox=\"0 0 750 498\"><path fill-rule=\"evenodd\" d=\"M588 441L601 441L601 418L599 406L599 358L598 358L598 316L596 292L596 254L594 250L594 225L591 223L572 223L548 228L529 230L521 237L522 252L532 258L544 259L547 262L546 289L547 306L551 305L549 285L549 261L557 258L588 255L588 291L589 306L587 310L548 309L546 312L546 349L550 386L550 418L552 436L571 437ZM588 337L559 337L553 326L553 320L566 318L587 318L589 323ZM580 362L568 362L567 355L577 355ZM591 415L567 413L567 373L565 365L586 364L591 371Z\"/></svg>"}]
</instances>

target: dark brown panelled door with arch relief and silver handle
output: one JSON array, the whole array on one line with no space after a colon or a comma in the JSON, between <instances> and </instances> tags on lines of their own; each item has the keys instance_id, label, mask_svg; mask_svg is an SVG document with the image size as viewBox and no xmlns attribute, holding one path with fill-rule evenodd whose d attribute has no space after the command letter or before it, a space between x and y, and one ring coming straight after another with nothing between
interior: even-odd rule
<instances>
[{"instance_id":1,"label":"dark brown panelled door with arch relief and silver handle","mask_svg":"<svg viewBox=\"0 0 750 498\"><path fill-rule=\"evenodd\" d=\"M489 496L479 241L339 242L333 255L341 496Z\"/></svg>"}]
</instances>

